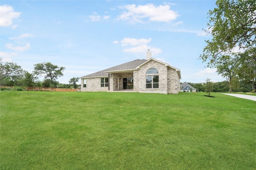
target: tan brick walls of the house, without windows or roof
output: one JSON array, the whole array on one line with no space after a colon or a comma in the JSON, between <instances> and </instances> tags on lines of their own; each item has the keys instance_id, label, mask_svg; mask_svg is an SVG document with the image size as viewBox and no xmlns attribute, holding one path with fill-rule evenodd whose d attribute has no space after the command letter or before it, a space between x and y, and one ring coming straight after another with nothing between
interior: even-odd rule
<instances>
[{"instance_id":1,"label":"tan brick walls of the house, without windows or roof","mask_svg":"<svg viewBox=\"0 0 256 170\"><path fill-rule=\"evenodd\" d=\"M149 68L156 68L159 75L159 88L146 88L146 71ZM155 74L148 74L155 75ZM165 64L151 60L140 66L139 70L129 73L113 73L110 76L110 92L123 90L123 78L133 77L133 91L142 93L174 93L180 91L180 78L175 69L165 66ZM121 81L120 81L121 80ZM87 78L86 88L81 79L81 91L108 91L108 87L100 87L100 78Z\"/></svg>"}]
</instances>

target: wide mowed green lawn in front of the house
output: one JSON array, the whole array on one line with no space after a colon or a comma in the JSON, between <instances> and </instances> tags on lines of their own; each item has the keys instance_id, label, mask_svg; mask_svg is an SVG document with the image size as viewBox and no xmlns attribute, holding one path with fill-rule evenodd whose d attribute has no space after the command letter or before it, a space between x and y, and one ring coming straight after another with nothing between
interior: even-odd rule
<instances>
[{"instance_id":1,"label":"wide mowed green lawn in front of the house","mask_svg":"<svg viewBox=\"0 0 256 170\"><path fill-rule=\"evenodd\" d=\"M256 104L224 94L0 92L0 168L256 169Z\"/></svg>"}]
</instances>

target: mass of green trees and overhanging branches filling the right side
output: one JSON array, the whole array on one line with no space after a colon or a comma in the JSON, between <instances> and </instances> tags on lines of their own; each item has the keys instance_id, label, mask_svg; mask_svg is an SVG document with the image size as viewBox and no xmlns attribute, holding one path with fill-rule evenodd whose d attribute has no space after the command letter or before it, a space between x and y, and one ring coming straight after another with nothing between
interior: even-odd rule
<instances>
[{"instance_id":1,"label":"mass of green trees and overhanging branches filling the right side","mask_svg":"<svg viewBox=\"0 0 256 170\"><path fill-rule=\"evenodd\" d=\"M212 39L200 59L216 67L229 82L229 91L237 91L241 82L256 86L256 0L217 0L209 10L208 28ZM239 49L240 52L236 52Z\"/></svg>"}]
</instances>

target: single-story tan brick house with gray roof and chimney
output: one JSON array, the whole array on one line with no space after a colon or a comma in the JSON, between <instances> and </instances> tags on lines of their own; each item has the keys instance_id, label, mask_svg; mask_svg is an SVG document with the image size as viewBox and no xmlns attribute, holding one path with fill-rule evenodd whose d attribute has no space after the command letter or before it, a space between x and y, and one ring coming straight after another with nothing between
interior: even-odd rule
<instances>
[{"instance_id":1,"label":"single-story tan brick house with gray roof and chimney","mask_svg":"<svg viewBox=\"0 0 256 170\"><path fill-rule=\"evenodd\" d=\"M137 59L120 64L81 79L81 92L86 91L134 91L142 93L178 94L180 70L170 64L151 58Z\"/></svg>"}]
</instances>

